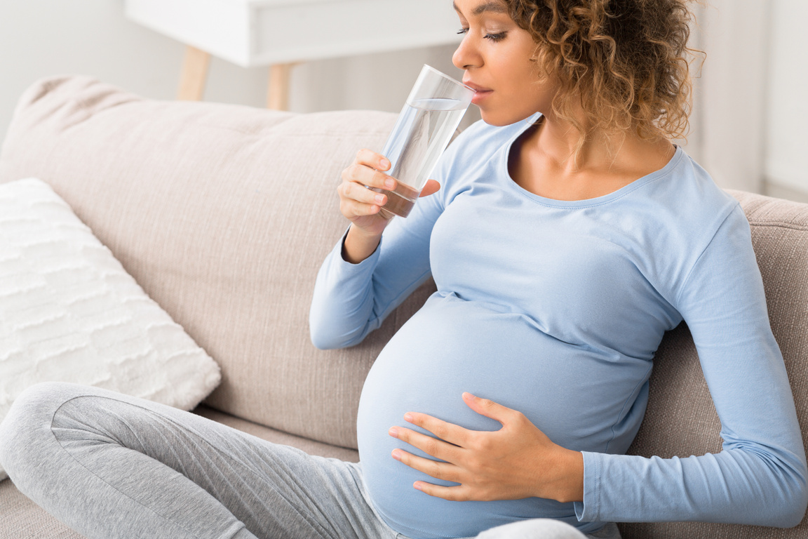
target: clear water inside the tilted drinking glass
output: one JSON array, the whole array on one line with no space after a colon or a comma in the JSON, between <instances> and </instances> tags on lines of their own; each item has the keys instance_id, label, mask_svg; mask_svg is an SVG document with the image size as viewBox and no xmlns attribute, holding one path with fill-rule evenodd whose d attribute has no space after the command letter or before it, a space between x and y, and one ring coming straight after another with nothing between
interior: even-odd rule
<instances>
[{"instance_id":1,"label":"clear water inside the tilted drinking glass","mask_svg":"<svg viewBox=\"0 0 808 539\"><path fill-rule=\"evenodd\" d=\"M381 152L392 164L387 174L399 183L393 192L381 191L388 197L383 211L401 217L409 215L467 107L457 99L415 99L406 103Z\"/></svg>"}]
</instances>

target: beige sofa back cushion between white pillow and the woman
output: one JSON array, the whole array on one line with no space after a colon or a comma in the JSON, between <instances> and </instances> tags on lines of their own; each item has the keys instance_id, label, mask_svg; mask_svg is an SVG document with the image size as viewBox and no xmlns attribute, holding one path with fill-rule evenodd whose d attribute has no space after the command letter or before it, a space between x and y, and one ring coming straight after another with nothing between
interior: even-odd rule
<instances>
[{"instance_id":1,"label":"beige sofa back cushion between white pillow and the woman","mask_svg":"<svg viewBox=\"0 0 808 539\"><path fill-rule=\"evenodd\" d=\"M211 406L355 448L364 377L428 291L339 351L310 343L309 302L347 225L339 173L358 149L381 149L395 119L161 102L49 78L19 101L0 182L36 176L74 208L220 364Z\"/></svg>"}]
</instances>

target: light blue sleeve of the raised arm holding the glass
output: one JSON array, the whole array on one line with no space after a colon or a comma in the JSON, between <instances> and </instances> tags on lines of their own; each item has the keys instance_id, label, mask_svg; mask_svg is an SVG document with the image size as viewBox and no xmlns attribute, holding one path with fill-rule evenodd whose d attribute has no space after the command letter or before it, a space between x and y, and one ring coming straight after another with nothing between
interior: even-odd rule
<instances>
[{"instance_id":1,"label":"light blue sleeve of the raised arm holding the glass","mask_svg":"<svg viewBox=\"0 0 808 539\"><path fill-rule=\"evenodd\" d=\"M343 259L345 238L340 239L314 285L309 310L314 346L360 343L430 276L431 229L441 211L440 193L419 200L409 217L393 218L377 250L358 264Z\"/></svg>"}]
</instances>

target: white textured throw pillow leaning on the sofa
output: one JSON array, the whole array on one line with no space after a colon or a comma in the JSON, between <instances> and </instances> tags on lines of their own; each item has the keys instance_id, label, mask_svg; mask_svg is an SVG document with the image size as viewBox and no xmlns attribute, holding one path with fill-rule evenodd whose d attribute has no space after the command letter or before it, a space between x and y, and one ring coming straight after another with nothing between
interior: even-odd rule
<instances>
[{"instance_id":1,"label":"white textured throw pillow leaning on the sofa","mask_svg":"<svg viewBox=\"0 0 808 539\"><path fill-rule=\"evenodd\" d=\"M47 183L0 185L0 421L40 381L191 410L220 380L216 362Z\"/></svg>"}]
</instances>

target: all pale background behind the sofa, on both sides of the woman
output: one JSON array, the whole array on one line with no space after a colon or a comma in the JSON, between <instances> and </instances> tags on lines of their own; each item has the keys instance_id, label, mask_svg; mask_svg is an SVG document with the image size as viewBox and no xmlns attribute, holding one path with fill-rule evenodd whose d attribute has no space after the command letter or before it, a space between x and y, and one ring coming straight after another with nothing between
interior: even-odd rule
<instances>
[{"instance_id":1,"label":"all pale background behind the sofa, on both sides of the woman","mask_svg":"<svg viewBox=\"0 0 808 539\"><path fill-rule=\"evenodd\" d=\"M437 0L436 0L437 1ZM440 0L441 2L448 0ZM808 199L797 162L808 147L804 0L710 0L696 46L696 131L686 149L722 187ZM37 78L89 74L152 99L174 99L184 48L124 18L123 0L0 0L0 140L16 99ZM371 108L398 112L424 63L449 74L453 47L316 61L292 71L296 112ZM267 69L213 59L205 99L263 107ZM478 118L469 109L464 123Z\"/></svg>"}]
</instances>

